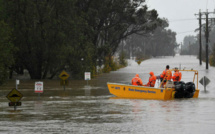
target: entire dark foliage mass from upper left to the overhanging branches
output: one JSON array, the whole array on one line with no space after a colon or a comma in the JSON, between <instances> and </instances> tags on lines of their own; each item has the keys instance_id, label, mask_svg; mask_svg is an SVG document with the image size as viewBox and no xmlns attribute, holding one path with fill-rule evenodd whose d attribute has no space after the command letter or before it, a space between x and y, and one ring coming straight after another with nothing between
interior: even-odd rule
<instances>
[{"instance_id":1,"label":"entire dark foliage mass from upper left to the overhanging branches","mask_svg":"<svg viewBox=\"0 0 215 134\"><path fill-rule=\"evenodd\" d=\"M105 59L105 72L116 70L119 64L111 56L121 41L134 33L150 34L162 22L144 0L0 2L17 48L11 69L19 74L26 69L31 79L53 78L63 69L73 78L86 70L95 74L98 58ZM124 59L122 54L122 66Z\"/></svg>"}]
</instances>

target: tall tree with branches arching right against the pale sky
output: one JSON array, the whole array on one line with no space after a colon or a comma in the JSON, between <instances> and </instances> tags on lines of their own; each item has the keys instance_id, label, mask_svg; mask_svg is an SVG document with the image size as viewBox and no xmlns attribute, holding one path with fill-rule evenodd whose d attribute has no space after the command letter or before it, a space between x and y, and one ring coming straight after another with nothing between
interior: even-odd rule
<instances>
[{"instance_id":1,"label":"tall tree with branches arching right against the pale sky","mask_svg":"<svg viewBox=\"0 0 215 134\"><path fill-rule=\"evenodd\" d=\"M79 9L87 17L94 45L93 61L114 55L120 42L130 35L147 34L159 25L155 10L148 11L144 0L80 0ZM111 64L111 63L110 63Z\"/></svg>"}]
</instances>

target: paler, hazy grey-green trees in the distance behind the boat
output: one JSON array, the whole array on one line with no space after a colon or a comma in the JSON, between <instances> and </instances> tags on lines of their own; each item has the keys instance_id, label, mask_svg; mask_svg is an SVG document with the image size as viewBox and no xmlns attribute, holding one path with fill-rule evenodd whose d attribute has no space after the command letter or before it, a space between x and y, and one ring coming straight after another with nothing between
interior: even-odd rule
<instances>
[{"instance_id":1,"label":"paler, hazy grey-green trees in the distance behind the boat","mask_svg":"<svg viewBox=\"0 0 215 134\"><path fill-rule=\"evenodd\" d=\"M126 44L123 44L124 50L131 53L132 57L138 58L138 61L151 56L174 56L177 46L176 33L167 29L167 20L158 19L157 23L156 29L145 33L146 36L133 34L127 38Z\"/></svg>"}]
</instances>

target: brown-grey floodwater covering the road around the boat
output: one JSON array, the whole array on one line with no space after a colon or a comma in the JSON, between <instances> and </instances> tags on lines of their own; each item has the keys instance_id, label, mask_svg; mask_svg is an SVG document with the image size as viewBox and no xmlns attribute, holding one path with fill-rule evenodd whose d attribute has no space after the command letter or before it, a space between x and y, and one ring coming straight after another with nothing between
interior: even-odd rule
<instances>
[{"instance_id":1,"label":"brown-grey floodwater covering the road around the boat","mask_svg":"<svg viewBox=\"0 0 215 134\"><path fill-rule=\"evenodd\" d=\"M147 83L150 71L159 75L165 66L199 71L199 79L210 79L207 92L199 84L197 99L144 100L113 99L107 82L129 83L139 73ZM140 65L129 61L126 68L102 74L88 82L69 81L64 88L60 80L44 80L44 93L34 93L34 80L20 80L24 95L22 106L8 106L5 97L15 87L9 81L0 87L0 133L26 134L214 134L215 68L205 69L194 56L159 57ZM188 76L182 72L182 77ZM184 79L186 81L186 79ZM191 80L192 81L192 80Z\"/></svg>"}]
</instances>

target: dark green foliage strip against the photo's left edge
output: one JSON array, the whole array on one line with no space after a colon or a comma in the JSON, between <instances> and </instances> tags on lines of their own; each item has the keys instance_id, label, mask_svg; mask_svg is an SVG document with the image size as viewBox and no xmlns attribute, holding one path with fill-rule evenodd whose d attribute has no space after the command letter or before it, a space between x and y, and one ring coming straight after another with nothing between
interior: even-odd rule
<instances>
[{"instance_id":1,"label":"dark green foliage strip against the photo's left edge","mask_svg":"<svg viewBox=\"0 0 215 134\"><path fill-rule=\"evenodd\" d=\"M9 67L13 64L12 52L14 51L11 43L11 28L0 21L0 85L8 78Z\"/></svg>"}]
</instances>

